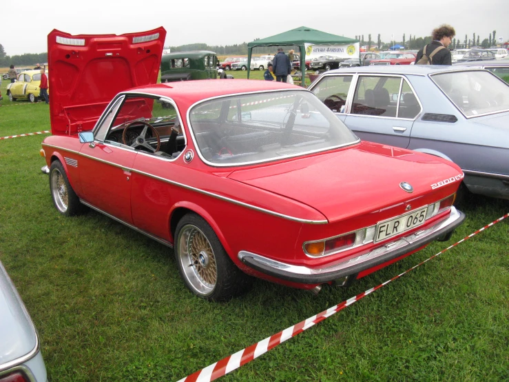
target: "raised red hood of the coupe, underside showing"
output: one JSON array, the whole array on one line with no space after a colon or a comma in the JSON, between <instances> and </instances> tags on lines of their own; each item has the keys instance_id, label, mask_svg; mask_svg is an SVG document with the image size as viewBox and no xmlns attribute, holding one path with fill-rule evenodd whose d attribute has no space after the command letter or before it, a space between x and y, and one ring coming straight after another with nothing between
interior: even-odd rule
<instances>
[{"instance_id":1,"label":"raised red hood of the coupe, underside showing","mask_svg":"<svg viewBox=\"0 0 509 382\"><path fill-rule=\"evenodd\" d=\"M156 83L165 43L163 27L147 32L48 34L52 134L92 130L118 93Z\"/></svg>"}]
</instances>

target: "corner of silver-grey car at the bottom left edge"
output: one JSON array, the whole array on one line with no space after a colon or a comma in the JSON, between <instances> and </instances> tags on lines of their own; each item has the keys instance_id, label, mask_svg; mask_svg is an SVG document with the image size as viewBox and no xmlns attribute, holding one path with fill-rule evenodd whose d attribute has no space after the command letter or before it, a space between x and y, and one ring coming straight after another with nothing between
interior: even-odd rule
<instances>
[{"instance_id":1,"label":"corner of silver-grey car at the bottom left edge","mask_svg":"<svg viewBox=\"0 0 509 382\"><path fill-rule=\"evenodd\" d=\"M2 263L0 263L0 381L47 381L37 330Z\"/></svg>"}]
</instances>

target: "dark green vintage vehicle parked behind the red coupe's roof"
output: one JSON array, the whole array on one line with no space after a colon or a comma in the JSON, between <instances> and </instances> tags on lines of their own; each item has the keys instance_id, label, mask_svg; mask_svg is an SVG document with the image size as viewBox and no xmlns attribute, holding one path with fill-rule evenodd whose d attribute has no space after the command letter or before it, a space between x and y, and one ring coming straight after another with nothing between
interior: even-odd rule
<instances>
[{"instance_id":1,"label":"dark green vintage vehicle parked behind the red coupe's roof","mask_svg":"<svg viewBox=\"0 0 509 382\"><path fill-rule=\"evenodd\" d=\"M218 63L216 53L208 50L163 54L161 82L216 79L219 77Z\"/></svg>"}]
</instances>

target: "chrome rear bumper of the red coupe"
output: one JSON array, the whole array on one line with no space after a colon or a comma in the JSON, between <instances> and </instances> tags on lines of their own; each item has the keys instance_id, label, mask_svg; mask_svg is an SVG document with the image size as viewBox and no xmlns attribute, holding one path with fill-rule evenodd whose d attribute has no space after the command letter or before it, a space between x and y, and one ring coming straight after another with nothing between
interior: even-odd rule
<instances>
[{"instance_id":1,"label":"chrome rear bumper of the red coupe","mask_svg":"<svg viewBox=\"0 0 509 382\"><path fill-rule=\"evenodd\" d=\"M411 245L418 240L424 239L425 237L434 234L435 232L442 230L443 228L447 228L448 225L453 224L455 221L461 218L461 213L456 210L456 208L451 207L450 215L444 221L436 223L432 227L415 232L408 237L403 237L398 239L397 241L393 241L391 243L387 243L385 245L380 246L379 248L375 248L371 252L366 254L362 254L350 260L344 260L340 263L332 265L326 268L309 268L304 265L293 265L289 263L282 263L281 261L276 261L273 259L269 259L267 257L261 256L259 254L254 254L247 251L238 252L238 259L242 261L245 257L251 257L253 261L263 264L266 267L273 268L274 270L280 270L283 272L287 272L289 274L293 274L295 276L299 275L320 275L327 274L332 272L337 272L340 270L347 270L355 265L360 265L366 261L371 261L373 259L377 259L377 257L381 257L384 254L388 254L393 252L399 248L404 248L406 245ZM242 261L244 262L244 261Z\"/></svg>"}]
</instances>

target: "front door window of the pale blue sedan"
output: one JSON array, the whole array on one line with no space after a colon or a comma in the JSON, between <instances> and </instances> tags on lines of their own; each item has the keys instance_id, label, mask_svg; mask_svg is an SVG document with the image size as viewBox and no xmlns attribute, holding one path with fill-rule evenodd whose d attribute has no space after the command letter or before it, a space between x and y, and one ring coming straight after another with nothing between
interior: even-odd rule
<instances>
[{"instance_id":1,"label":"front door window of the pale blue sedan","mask_svg":"<svg viewBox=\"0 0 509 382\"><path fill-rule=\"evenodd\" d=\"M318 86L313 88L313 93L333 112L344 112L352 77L351 75L324 77Z\"/></svg>"}]
</instances>

